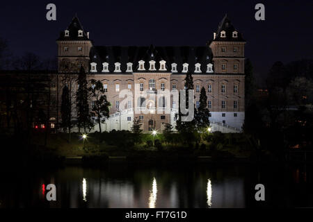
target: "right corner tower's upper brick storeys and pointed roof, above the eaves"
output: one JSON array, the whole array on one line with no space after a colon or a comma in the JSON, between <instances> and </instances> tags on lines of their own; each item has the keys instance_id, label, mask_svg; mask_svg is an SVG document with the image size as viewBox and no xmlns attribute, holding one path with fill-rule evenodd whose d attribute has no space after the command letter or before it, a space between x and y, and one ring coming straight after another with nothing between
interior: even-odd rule
<instances>
[{"instance_id":1,"label":"right corner tower's upper brick storeys and pointed roof, above the eaves","mask_svg":"<svg viewBox=\"0 0 313 222\"><path fill-rule=\"evenodd\" d=\"M209 46L214 55L215 74L244 74L246 41L225 15Z\"/></svg>"}]
</instances>

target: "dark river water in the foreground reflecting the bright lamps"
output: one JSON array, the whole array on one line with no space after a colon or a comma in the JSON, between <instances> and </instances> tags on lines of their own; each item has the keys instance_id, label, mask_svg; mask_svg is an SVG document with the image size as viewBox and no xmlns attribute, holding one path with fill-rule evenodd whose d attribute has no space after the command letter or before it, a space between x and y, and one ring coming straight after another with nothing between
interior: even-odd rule
<instances>
[{"instance_id":1,"label":"dark river water in the foreground reflecting the bright lamps","mask_svg":"<svg viewBox=\"0 0 313 222\"><path fill-rule=\"evenodd\" d=\"M67 166L1 173L0 207L312 207L311 165ZM265 201L255 200L255 185ZM47 185L56 185L56 201Z\"/></svg>"}]
</instances>

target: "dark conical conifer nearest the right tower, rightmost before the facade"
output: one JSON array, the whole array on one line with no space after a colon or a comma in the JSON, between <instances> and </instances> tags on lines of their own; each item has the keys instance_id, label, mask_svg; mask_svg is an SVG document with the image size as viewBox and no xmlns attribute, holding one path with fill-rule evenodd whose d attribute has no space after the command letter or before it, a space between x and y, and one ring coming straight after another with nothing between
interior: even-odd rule
<instances>
[{"instance_id":1,"label":"dark conical conifer nearest the right tower, rightmost before the facade","mask_svg":"<svg viewBox=\"0 0 313 222\"><path fill-rule=\"evenodd\" d=\"M209 121L209 109L207 108L207 92L204 87L200 91L200 105L196 112L195 121L197 124L198 131L204 132L210 126Z\"/></svg>"}]
</instances>

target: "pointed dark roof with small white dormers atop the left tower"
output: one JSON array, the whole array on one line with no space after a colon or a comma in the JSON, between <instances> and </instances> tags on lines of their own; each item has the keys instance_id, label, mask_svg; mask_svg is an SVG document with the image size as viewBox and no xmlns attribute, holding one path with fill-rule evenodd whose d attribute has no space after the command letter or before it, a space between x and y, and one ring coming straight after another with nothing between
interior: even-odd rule
<instances>
[{"instance_id":1,"label":"pointed dark roof with small white dormers atop the left tower","mask_svg":"<svg viewBox=\"0 0 313 222\"><path fill-rule=\"evenodd\" d=\"M69 36L65 36L65 30L68 30ZM79 18L77 16L73 17L72 22L70 25L65 29L64 31L60 32L60 37L58 37L57 41L86 41L89 40L87 33L83 31L83 26L81 25L81 22L79 22ZM79 30L83 31L83 36L79 37L78 32Z\"/></svg>"}]
</instances>

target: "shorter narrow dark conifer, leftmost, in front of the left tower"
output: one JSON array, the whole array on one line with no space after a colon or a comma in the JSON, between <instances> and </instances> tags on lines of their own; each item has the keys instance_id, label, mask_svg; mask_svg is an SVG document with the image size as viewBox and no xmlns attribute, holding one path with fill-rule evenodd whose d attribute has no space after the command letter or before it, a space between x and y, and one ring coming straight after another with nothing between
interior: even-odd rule
<instances>
[{"instance_id":1,"label":"shorter narrow dark conifer, leftmost, in front of the left tower","mask_svg":"<svg viewBox=\"0 0 313 222\"><path fill-rule=\"evenodd\" d=\"M70 92L65 85L63 87L62 92L62 101L61 101L61 127L63 128L63 131L66 132L67 128L71 127L71 109L70 109Z\"/></svg>"}]
</instances>

